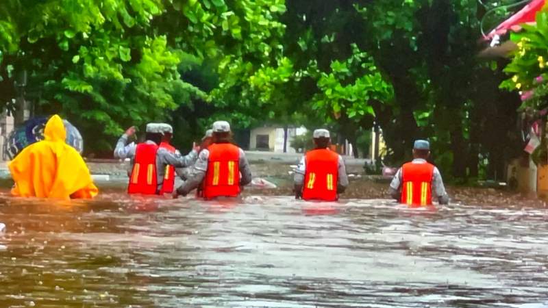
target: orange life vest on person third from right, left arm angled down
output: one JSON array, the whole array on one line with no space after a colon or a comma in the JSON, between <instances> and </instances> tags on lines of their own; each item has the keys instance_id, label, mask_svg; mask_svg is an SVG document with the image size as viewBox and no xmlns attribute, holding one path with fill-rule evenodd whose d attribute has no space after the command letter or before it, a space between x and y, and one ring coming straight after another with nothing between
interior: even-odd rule
<instances>
[{"instance_id":1,"label":"orange life vest on person third from right, left arm angled down","mask_svg":"<svg viewBox=\"0 0 548 308\"><path fill-rule=\"evenodd\" d=\"M203 197L238 196L240 194L240 148L219 143L208 146L210 157L203 185Z\"/></svg>"}]
</instances>

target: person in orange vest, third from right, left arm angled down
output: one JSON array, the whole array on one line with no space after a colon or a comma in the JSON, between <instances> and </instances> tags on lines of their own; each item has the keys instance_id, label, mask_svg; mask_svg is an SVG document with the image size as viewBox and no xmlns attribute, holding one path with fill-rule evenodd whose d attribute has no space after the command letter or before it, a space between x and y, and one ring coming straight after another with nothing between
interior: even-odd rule
<instances>
[{"instance_id":1,"label":"person in orange vest, third from right, left arm angled down","mask_svg":"<svg viewBox=\"0 0 548 308\"><path fill-rule=\"evenodd\" d=\"M213 123L213 143L202 149L192 166L188 179L173 194L186 196L191 190L203 185L203 198L238 196L240 186L251 182L251 169L245 153L230 143L230 125L226 121Z\"/></svg>"}]
</instances>

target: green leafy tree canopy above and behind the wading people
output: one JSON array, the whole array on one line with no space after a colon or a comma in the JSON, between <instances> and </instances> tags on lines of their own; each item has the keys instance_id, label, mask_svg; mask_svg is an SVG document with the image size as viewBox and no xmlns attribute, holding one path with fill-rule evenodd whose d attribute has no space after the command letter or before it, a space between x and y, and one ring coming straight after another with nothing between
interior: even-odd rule
<instances>
[{"instance_id":1,"label":"green leafy tree canopy above and behind the wading people","mask_svg":"<svg viewBox=\"0 0 548 308\"><path fill-rule=\"evenodd\" d=\"M88 152L152 120L179 142L219 118L325 126L354 144L376 127L386 162L428 138L448 175L488 161L495 177L521 151L519 96L498 88L506 60L477 57L481 28L519 9L501 3L513 1L5 0L0 103L13 107L26 72L36 112L68 117Z\"/></svg>"}]
</instances>

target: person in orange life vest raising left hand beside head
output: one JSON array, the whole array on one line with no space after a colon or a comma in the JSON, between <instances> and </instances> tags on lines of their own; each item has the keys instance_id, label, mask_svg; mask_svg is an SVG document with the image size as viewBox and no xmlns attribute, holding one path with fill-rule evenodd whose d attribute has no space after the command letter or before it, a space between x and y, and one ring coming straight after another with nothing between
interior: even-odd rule
<instances>
[{"instance_id":1,"label":"person in orange life vest raising left hand beside head","mask_svg":"<svg viewBox=\"0 0 548 308\"><path fill-rule=\"evenodd\" d=\"M114 149L114 157L132 159L132 172L128 185L130 194L160 194L166 166L190 166L197 159L198 148L192 149L188 155L182 156L178 151L171 153L158 146L162 142L164 133L164 125L160 123L147 124L145 142L127 144L128 138L134 133L135 128L129 127L118 140L116 149Z\"/></svg>"}]
</instances>

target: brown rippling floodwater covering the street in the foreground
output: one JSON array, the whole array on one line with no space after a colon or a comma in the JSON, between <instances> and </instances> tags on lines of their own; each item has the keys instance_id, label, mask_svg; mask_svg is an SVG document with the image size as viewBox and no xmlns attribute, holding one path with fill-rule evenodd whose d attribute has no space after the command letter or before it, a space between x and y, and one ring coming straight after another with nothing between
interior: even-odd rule
<instances>
[{"instance_id":1,"label":"brown rippling floodwater covering the street in the foreground","mask_svg":"<svg viewBox=\"0 0 548 308\"><path fill-rule=\"evenodd\" d=\"M0 307L548 307L548 210L0 196Z\"/></svg>"}]
</instances>

